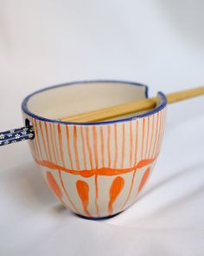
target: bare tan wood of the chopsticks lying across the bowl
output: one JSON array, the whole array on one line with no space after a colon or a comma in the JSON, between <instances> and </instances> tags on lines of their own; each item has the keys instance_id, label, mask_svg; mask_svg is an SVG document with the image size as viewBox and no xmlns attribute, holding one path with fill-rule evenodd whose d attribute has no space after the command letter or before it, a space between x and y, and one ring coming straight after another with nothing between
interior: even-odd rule
<instances>
[{"instance_id":1,"label":"bare tan wood of the chopsticks lying across the bowl","mask_svg":"<svg viewBox=\"0 0 204 256\"><path fill-rule=\"evenodd\" d=\"M185 89L175 93L170 93L166 95L168 103L180 102L188 98L193 98L199 95L204 95L204 86ZM87 122L87 121L103 121L105 119L110 119L118 117L120 115L128 115L132 113L137 113L144 110L149 110L156 107L156 97L143 99L134 102L127 102L117 106L112 106L109 108L102 108L94 110L91 112L82 113L79 115L71 115L63 117L61 121L74 121L74 122Z\"/></svg>"}]
</instances>

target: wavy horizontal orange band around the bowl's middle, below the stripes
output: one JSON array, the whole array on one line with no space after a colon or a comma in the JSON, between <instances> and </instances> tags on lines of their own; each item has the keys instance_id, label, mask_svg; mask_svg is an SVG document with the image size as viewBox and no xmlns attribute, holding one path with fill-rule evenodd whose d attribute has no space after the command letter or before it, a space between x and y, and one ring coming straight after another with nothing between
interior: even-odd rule
<instances>
[{"instance_id":1,"label":"wavy horizontal orange band around the bowl's middle, below the stripes","mask_svg":"<svg viewBox=\"0 0 204 256\"><path fill-rule=\"evenodd\" d=\"M46 161L46 160L36 160L35 162L42 167L48 167L53 170L61 170L63 172L66 172L67 174L74 174L74 175L80 175L82 177L92 177L92 175L102 175L102 176L112 176L112 175L118 175L118 174L127 174L130 173L131 171L137 169L137 168L142 168L147 165L150 165L155 161L156 158L152 159L143 159L137 163L136 166L130 167L130 168L125 168L125 169L115 169L115 168L109 168L109 167L102 167L99 169L92 169L92 170L73 170L73 169L68 169L66 167L61 167L57 164L54 164L53 162Z\"/></svg>"}]
</instances>

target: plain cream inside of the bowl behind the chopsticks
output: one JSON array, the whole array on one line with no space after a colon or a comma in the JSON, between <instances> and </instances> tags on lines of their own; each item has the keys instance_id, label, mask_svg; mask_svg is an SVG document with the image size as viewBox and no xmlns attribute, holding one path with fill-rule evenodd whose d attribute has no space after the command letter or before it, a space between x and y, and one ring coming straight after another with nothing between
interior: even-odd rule
<instances>
[{"instance_id":1,"label":"plain cream inside of the bowl behind the chopsticks","mask_svg":"<svg viewBox=\"0 0 204 256\"><path fill-rule=\"evenodd\" d=\"M128 82L64 84L41 90L29 96L27 108L35 115L48 119L59 119L68 115L143 99L147 95L146 90L144 85Z\"/></svg>"}]
</instances>

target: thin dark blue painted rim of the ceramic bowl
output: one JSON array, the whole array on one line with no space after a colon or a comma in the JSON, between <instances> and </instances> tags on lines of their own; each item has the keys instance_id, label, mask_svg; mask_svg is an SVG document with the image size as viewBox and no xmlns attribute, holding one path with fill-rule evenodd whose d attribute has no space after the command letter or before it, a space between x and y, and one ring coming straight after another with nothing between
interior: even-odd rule
<instances>
[{"instance_id":1,"label":"thin dark blue painted rim of the ceramic bowl","mask_svg":"<svg viewBox=\"0 0 204 256\"><path fill-rule=\"evenodd\" d=\"M157 93L157 95L160 96L162 103L157 106L156 108L152 109L151 111L148 111L147 113L144 113L142 115L136 115L136 116L131 116L128 118L123 118L123 119L117 119L117 120L112 120L112 121L95 121L95 122L74 122L74 121L60 121L60 120L56 120L56 119L49 119L46 117L43 117L41 115L35 115L34 113L32 113L29 108L28 108L28 102L29 99L37 94L40 94L41 92L47 91L49 89L56 89L59 87L64 87L64 86L71 86L71 85L76 85L76 84L86 84L86 83L104 83L104 82L109 82L109 83L126 83L129 85L134 85L134 86L142 86L145 88L145 97L148 98L149 97L149 89L148 86L139 82L127 82L127 81L120 81L120 80L86 80L86 81L77 81L77 82L66 82L66 83L61 83L61 84L57 84L57 85L53 85L53 86L49 86L46 87L44 89L40 89L35 91L34 93L28 95L26 98L24 98L24 100L22 101L22 111L35 118L36 120L40 120L40 121L48 121L48 122L55 122L55 123L61 123L61 124L74 124L74 125L99 125L99 124L110 124L110 123L115 123L115 122L123 122L123 121L132 121L132 120L136 120L137 118L142 118L145 116L149 116L149 115L153 115L156 112L159 112L160 110L162 110L163 108L165 108L167 106L167 97L166 95L163 94L163 92L159 91Z\"/></svg>"}]
</instances>

